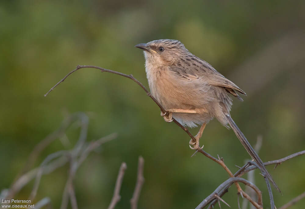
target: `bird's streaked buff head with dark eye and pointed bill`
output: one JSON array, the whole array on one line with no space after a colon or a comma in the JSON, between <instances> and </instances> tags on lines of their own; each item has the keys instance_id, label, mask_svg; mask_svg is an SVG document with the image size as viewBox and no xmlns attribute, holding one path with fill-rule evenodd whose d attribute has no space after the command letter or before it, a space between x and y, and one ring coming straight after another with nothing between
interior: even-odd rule
<instances>
[{"instance_id":1,"label":"bird's streaked buff head with dark eye and pointed bill","mask_svg":"<svg viewBox=\"0 0 305 209\"><path fill-rule=\"evenodd\" d=\"M160 39L147 44L137 44L135 47L144 50L146 63L154 65L172 65L178 62L188 50L178 40Z\"/></svg>"}]
</instances>

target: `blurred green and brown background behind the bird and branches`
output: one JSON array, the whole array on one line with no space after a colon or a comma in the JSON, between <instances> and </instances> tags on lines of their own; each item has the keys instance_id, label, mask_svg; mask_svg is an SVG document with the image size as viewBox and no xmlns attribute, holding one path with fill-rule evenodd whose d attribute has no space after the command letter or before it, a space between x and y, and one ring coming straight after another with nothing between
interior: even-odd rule
<instances>
[{"instance_id":1,"label":"blurred green and brown background behind the bird and branches","mask_svg":"<svg viewBox=\"0 0 305 209\"><path fill-rule=\"evenodd\" d=\"M304 150L305 1L1 1L0 20L0 190L9 188L33 147L66 113L78 111L90 117L88 140L118 133L79 168L79 208L107 208L122 161L128 168L116 208L128 208L139 155L145 159L139 208L194 208L226 180L215 162L201 154L190 158L187 134L164 122L131 80L82 69L43 96L77 64L132 73L148 87L143 53L134 45L156 39L180 40L246 91L243 103L234 99L231 115L251 144L263 136L263 161ZM67 132L72 144L78 133ZM232 172L249 158L233 131L216 120L201 143ZM65 148L56 140L35 166ZM59 208L68 168L43 176L35 201L50 197ZM268 169L283 191L274 190L277 207L304 192L304 157ZM268 208L264 179L258 171L255 176ZM16 198L27 199L33 183ZM223 197L232 208L236 192L232 186Z\"/></svg>"}]
</instances>

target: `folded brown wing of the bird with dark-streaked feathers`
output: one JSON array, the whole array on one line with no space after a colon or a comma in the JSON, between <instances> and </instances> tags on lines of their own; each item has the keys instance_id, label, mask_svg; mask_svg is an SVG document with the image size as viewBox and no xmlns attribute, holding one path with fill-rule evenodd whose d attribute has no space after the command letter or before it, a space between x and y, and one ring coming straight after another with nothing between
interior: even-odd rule
<instances>
[{"instance_id":1,"label":"folded brown wing of the bird with dark-streaked feathers","mask_svg":"<svg viewBox=\"0 0 305 209\"><path fill-rule=\"evenodd\" d=\"M242 98L239 97L239 95L235 91L246 95L246 93L242 89L240 89L232 81L221 75L209 63L196 56L192 56L187 59L182 59L181 62L170 66L169 69L170 71L177 73L178 76L180 76L181 79L184 80L192 81L201 78L205 83L211 86L224 87L224 89L228 93L237 97L239 100L242 100Z\"/></svg>"}]
</instances>

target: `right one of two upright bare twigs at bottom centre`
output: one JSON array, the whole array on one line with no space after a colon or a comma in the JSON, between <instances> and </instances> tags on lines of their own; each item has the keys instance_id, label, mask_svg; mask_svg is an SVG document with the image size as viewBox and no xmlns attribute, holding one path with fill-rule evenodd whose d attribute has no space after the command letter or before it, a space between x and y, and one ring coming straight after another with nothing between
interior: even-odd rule
<instances>
[{"instance_id":1,"label":"right one of two upright bare twigs at bottom centre","mask_svg":"<svg viewBox=\"0 0 305 209\"><path fill-rule=\"evenodd\" d=\"M139 161L138 161L137 182L135 185L134 193L130 200L131 209L138 208L138 200L139 200L140 192L142 189L142 185L144 183L143 169L144 169L144 158L142 158L142 156L140 156Z\"/></svg>"}]
</instances>

